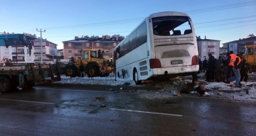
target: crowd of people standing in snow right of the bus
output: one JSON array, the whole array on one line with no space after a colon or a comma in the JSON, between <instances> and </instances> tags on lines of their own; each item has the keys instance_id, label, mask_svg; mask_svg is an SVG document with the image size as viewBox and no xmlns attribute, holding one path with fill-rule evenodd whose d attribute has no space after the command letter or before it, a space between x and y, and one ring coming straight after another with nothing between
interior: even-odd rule
<instances>
[{"instance_id":1,"label":"crowd of people standing in snow right of the bus","mask_svg":"<svg viewBox=\"0 0 256 136\"><path fill-rule=\"evenodd\" d=\"M206 80L208 82L224 82L229 84L235 82L235 87L241 87L240 82L247 82L248 68L246 60L243 60L243 53L237 55L230 51L223 58L214 58L212 54L208 54L209 59L204 58L203 61L199 59L199 71L206 73Z\"/></svg>"}]
</instances>

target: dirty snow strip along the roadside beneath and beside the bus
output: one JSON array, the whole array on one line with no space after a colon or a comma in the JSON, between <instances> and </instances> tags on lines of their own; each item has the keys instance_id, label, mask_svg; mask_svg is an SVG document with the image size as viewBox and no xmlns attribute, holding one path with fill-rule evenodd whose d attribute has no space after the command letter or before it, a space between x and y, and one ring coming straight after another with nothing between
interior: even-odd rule
<instances>
[{"instance_id":1,"label":"dirty snow strip along the roadside beneath and beside the bus","mask_svg":"<svg viewBox=\"0 0 256 136\"><path fill-rule=\"evenodd\" d=\"M235 81L231 82L230 84L225 83L208 83L204 80L206 79L204 76L205 73L199 73L197 74L198 81L200 81L200 84L205 87L208 92L206 92L203 96L206 97L218 97L218 98L227 98L227 99L235 99L235 100L249 100L249 101L256 101L256 82L241 82L243 84L242 88L236 88ZM57 84L95 84L95 85L110 85L110 86L117 86L117 85L123 85L123 84L129 84L129 86L144 86L144 87L161 87L163 89L157 90L157 91L144 91L144 90L137 90L136 92L140 94L141 97L146 99L155 99L155 98L170 98L174 97L173 93L177 93L177 95L192 95L192 96L198 96L196 89L190 89L189 94L181 94L179 93L182 89L184 92L184 86L187 85L187 83L192 82L192 76L187 76L185 79L177 78L173 81L159 81L159 82L153 82L153 83L147 83L142 85L136 85L133 80L129 80L127 78L117 78L115 81L115 78L113 75L110 75L112 78L107 79L91 79L91 78L69 78L62 76L61 81L54 82ZM250 75L249 75L250 78ZM53 83L53 84L54 84ZM196 86L195 86L196 87ZM248 94L246 94L248 93Z\"/></svg>"}]
</instances>

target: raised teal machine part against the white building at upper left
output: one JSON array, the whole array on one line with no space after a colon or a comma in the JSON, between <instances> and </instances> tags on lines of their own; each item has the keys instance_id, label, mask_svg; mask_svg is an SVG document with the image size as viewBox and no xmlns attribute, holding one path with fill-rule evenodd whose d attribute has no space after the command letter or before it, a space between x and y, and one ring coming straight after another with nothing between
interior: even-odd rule
<instances>
[{"instance_id":1,"label":"raised teal machine part against the white building at upper left","mask_svg":"<svg viewBox=\"0 0 256 136\"><path fill-rule=\"evenodd\" d=\"M21 46L24 45L29 49L29 56L31 55L31 43L27 40L24 34L4 34L0 35L0 46Z\"/></svg>"}]
</instances>

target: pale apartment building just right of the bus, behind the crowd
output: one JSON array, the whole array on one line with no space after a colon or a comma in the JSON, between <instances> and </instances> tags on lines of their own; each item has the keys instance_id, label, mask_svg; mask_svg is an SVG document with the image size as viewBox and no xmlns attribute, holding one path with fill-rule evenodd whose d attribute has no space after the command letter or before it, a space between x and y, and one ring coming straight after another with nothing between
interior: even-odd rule
<instances>
[{"instance_id":1,"label":"pale apartment building just right of the bus, behind the crowd","mask_svg":"<svg viewBox=\"0 0 256 136\"><path fill-rule=\"evenodd\" d=\"M212 54L214 58L219 58L219 46L219 40L206 39L206 36L204 39L201 39L200 36L197 37L198 58L201 60L208 59L208 54Z\"/></svg>"}]
</instances>

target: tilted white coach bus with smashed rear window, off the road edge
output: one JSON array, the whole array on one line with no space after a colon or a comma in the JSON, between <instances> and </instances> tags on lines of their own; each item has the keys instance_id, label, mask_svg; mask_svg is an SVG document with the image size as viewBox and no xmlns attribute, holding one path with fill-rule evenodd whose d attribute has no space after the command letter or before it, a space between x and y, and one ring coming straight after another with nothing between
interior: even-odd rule
<instances>
[{"instance_id":1,"label":"tilted white coach bus with smashed rear window, off the road edge","mask_svg":"<svg viewBox=\"0 0 256 136\"><path fill-rule=\"evenodd\" d=\"M195 75L197 38L191 18L181 12L149 15L114 49L116 74L136 84Z\"/></svg>"}]
</instances>

